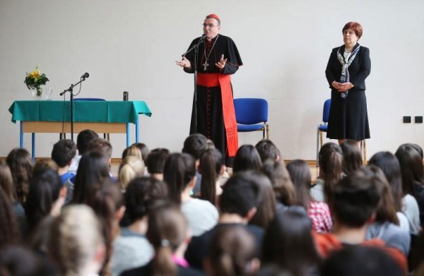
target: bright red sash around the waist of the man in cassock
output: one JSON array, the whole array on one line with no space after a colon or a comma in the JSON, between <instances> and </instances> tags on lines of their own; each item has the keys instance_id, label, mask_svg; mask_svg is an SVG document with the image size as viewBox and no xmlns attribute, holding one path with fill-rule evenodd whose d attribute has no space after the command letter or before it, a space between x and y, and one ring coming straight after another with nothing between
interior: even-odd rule
<instances>
[{"instance_id":1,"label":"bright red sash around the waist of the man in cassock","mask_svg":"<svg viewBox=\"0 0 424 276\"><path fill-rule=\"evenodd\" d=\"M232 100L231 76L220 73L197 73L197 84L207 88L220 87L223 100L223 116L227 135L228 156L235 156L238 149L237 122Z\"/></svg>"}]
</instances>

